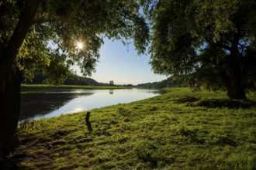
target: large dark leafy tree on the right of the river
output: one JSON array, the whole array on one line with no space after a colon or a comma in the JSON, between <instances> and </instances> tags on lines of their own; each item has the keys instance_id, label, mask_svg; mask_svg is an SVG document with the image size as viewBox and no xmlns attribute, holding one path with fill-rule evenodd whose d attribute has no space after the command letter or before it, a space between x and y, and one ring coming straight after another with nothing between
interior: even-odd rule
<instances>
[{"instance_id":1,"label":"large dark leafy tree on the right of the river","mask_svg":"<svg viewBox=\"0 0 256 170\"><path fill-rule=\"evenodd\" d=\"M252 0L141 1L152 25L155 73L245 99L256 82L256 4Z\"/></svg>"}]
</instances>

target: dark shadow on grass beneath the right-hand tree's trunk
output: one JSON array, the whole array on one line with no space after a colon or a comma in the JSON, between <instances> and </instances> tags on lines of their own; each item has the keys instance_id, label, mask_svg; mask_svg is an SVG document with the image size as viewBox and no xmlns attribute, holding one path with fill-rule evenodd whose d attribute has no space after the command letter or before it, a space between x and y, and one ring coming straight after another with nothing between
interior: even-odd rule
<instances>
[{"instance_id":1,"label":"dark shadow on grass beneath the right-hand tree's trunk","mask_svg":"<svg viewBox=\"0 0 256 170\"><path fill-rule=\"evenodd\" d=\"M227 107L229 109L238 108L251 108L256 107L256 101L252 100L224 100L224 99L209 99L200 100L195 106L207 107L207 108L220 108Z\"/></svg>"}]
</instances>

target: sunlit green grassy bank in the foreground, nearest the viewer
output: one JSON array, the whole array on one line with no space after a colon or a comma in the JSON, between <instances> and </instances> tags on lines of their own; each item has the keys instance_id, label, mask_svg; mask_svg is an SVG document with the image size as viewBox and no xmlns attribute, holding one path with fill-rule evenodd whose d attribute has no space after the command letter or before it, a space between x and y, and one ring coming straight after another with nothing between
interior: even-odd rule
<instances>
[{"instance_id":1,"label":"sunlit green grassy bank in the foreground, nearest the viewer","mask_svg":"<svg viewBox=\"0 0 256 170\"><path fill-rule=\"evenodd\" d=\"M19 126L20 169L255 169L256 97L185 88ZM11 165L9 165L11 167Z\"/></svg>"}]
</instances>

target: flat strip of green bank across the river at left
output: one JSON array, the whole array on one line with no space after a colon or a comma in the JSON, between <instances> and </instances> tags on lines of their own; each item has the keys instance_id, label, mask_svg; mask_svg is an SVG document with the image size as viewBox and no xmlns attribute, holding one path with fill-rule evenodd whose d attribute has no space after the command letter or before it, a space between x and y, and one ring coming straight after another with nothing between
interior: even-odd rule
<instances>
[{"instance_id":1,"label":"flat strip of green bank across the river at left","mask_svg":"<svg viewBox=\"0 0 256 170\"><path fill-rule=\"evenodd\" d=\"M56 90L65 90L65 89L99 89L99 90L108 90L108 89L124 89L126 87L116 87L116 86L81 86L81 85L50 85L50 84L25 84L22 83L21 90L22 93L28 92L37 92L44 93L46 91L56 91Z\"/></svg>"}]
</instances>

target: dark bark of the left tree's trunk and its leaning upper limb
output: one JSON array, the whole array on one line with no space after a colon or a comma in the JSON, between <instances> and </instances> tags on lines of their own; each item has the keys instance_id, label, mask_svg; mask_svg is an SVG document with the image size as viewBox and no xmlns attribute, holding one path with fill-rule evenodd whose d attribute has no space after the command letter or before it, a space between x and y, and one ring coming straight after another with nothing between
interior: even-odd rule
<instances>
[{"instance_id":1,"label":"dark bark of the left tree's trunk and its leaning upper limb","mask_svg":"<svg viewBox=\"0 0 256 170\"><path fill-rule=\"evenodd\" d=\"M21 73L16 67L19 48L33 24L42 0L26 0L9 42L0 51L0 157L16 146Z\"/></svg>"}]
</instances>

